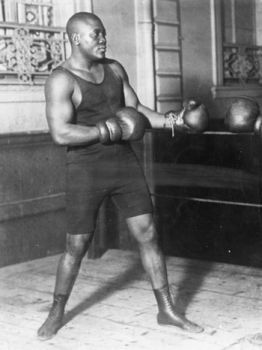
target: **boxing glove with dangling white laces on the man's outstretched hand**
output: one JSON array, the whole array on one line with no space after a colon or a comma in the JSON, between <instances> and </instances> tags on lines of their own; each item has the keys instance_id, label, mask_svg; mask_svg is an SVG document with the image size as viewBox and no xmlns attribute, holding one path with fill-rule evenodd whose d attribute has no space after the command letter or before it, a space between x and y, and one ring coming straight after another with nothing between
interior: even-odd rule
<instances>
[{"instance_id":1,"label":"boxing glove with dangling white laces on the man's outstretched hand","mask_svg":"<svg viewBox=\"0 0 262 350\"><path fill-rule=\"evenodd\" d=\"M206 107L195 100L185 101L181 110L169 111L165 118L164 127L172 128L172 136L175 131L202 133L207 129L209 119Z\"/></svg>"}]
</instances>

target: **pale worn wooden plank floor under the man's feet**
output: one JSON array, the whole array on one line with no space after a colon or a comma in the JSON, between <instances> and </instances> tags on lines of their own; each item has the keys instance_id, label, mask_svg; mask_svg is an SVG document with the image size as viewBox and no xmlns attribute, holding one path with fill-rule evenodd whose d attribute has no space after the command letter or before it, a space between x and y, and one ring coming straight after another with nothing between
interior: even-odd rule
<instances>
[{"instance_id":1,"label":"pale worn wooden plank floor under the man's feet","mask_svg":"<svg viewBox=\"0 0 262 350\"><path fill-rule=\"evenodd\" d=\"M1 350L262 349L262 270L168 258L174 302L205 327L190 334L156 323L156 304L136 253L110 250L83 262L65 325L41 342L59 256L0 269ZM262 333L261 333L262 334Z\"/></svg>"}]
</instances>

